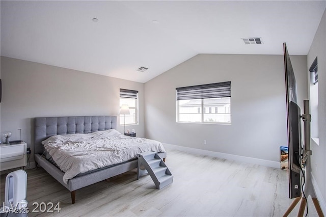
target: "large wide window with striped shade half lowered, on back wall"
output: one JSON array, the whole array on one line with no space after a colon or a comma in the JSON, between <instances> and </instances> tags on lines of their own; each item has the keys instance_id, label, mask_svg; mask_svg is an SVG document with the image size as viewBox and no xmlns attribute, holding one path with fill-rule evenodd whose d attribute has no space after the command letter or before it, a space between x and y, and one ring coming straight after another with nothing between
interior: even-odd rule
<instances>
[{"instance_id":1,"label":"large wide window with striped shade half lowered, on back wall","mask_svg":"<svg viewBox=\"0 0 326 217\"><path fill-rule=\"evenodd\" d=\"M177 122L231 123L231 82L176 88Z\"/></svg>"}]
</instances>

